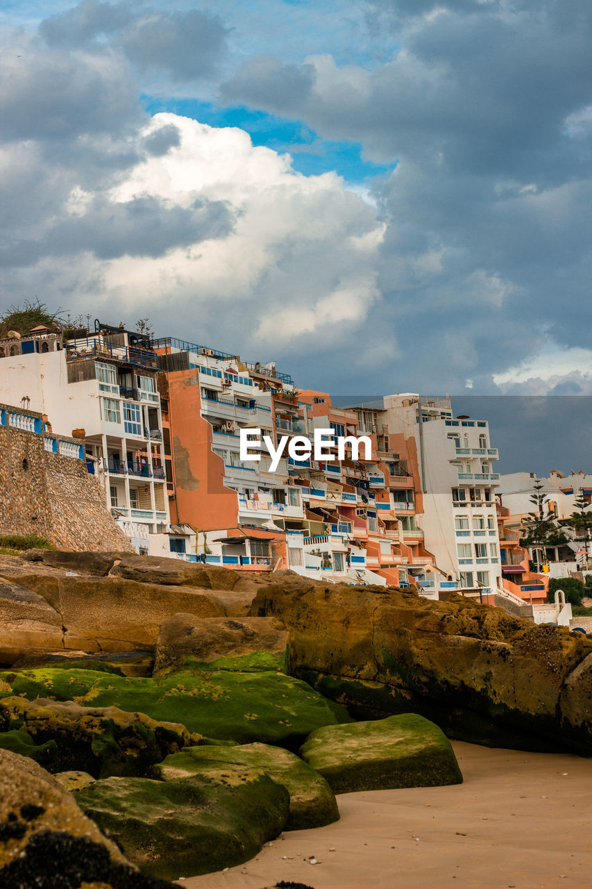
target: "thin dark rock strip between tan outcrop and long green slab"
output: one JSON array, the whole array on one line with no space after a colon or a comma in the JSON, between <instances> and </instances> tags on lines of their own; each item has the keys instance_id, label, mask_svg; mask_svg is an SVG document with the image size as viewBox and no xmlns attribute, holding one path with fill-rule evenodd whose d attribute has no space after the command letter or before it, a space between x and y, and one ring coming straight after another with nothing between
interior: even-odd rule
<instances>
[{"instance_id":1,"label":"thin dark rock strip between tan outcrop and long green slab","mask_svg":"<svg viewBox=\"0 0 592 889\"><path fill-rule=\"evenodd\" d=\"M130 652L57 651L23 655L12 663L12 669L93 669L117 676L152 676L154 650L143 648Z\"/></svg>"}]
</instances>

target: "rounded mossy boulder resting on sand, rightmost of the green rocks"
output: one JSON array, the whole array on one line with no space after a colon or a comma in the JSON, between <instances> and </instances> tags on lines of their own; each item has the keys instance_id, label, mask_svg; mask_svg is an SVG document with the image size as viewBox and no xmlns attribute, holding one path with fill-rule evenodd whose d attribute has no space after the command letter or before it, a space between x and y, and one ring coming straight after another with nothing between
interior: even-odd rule
<instances>
[{"instance_id":1,"label":"rounded mossy boulder resting on sand, rightmost of the green rocks","mask_svg":"<svg viewBox=\"0 0 592 889\"><path fill-rule=\"evenodd\" d=\"M300 756L334 793L462 782L450 741L437 725L412 713L316 729Z\"/></svg>"}]
</instances>

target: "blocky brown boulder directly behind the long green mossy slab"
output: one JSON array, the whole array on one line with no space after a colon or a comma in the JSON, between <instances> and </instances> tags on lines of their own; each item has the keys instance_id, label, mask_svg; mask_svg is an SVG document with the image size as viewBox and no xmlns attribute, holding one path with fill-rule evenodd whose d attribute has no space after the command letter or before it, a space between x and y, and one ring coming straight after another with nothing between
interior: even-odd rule
<instances>
[{"instance_id":1,"label":"blocky brown boulder directly behind the long green mossy slab","mask_svg":"<svg viewBox=\"0 0 592 889\"><path fill-rule=\"evenodd\" d=\"M220 663L245 669L246 655L254 669L286 669L288 634L274 618L198 618L174 614L164 621L156 640L155 676L179 669L188 657L197 663ZM195 668L194 668L195 669Z\"/></svg>"}]
</instances>

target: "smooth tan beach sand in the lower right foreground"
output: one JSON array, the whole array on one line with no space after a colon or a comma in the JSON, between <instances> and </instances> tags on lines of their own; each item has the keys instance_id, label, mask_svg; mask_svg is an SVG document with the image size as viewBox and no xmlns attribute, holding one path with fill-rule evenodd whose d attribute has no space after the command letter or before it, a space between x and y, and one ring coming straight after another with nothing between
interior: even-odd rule
<instances>
[{"instance_id":1,"label":"smooth tan beach sand in the lower right foreground","mask_svg":"<svg viewBox=\"0 0 592 889\"><path fill-rule=\"evenodd\" d=\"M592 760L455 742L464 783L338 797L341 820L284 833L186 889L592 887ZM314 856L317 864L310 864Z\"/></svg>"}]
</instances>

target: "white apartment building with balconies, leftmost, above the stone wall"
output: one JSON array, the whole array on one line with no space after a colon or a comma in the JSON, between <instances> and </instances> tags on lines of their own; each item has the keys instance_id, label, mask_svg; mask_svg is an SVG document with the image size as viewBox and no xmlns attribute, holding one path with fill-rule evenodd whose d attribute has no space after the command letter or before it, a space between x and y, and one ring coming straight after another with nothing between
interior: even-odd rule
<instances>
[{"instance_id":1,"label":"white apartment building with balconies, leftmost, above the stone wall","mask_svg":"<svg viewBox=\"0 0 592 889\"><path fill-rule=\"evenodd\" d=\"M161 552L170 518L158 358L148 338L95 322L92 333L36 328L0 342L0 398L84 444L108 509L139 552Z\"/></svg>"}]
</instances>

